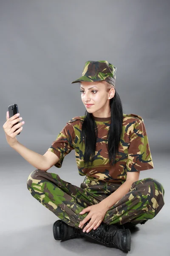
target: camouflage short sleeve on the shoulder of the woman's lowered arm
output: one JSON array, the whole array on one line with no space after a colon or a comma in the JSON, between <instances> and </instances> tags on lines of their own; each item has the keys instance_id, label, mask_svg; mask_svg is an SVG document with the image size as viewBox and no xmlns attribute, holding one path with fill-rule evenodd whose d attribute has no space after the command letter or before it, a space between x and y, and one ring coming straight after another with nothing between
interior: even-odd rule
<instances>
[{"instance_id":1,"label":"camouflage short sleeve on the shoulder of the woman's lowered arm","mask_svg":"<svg viewBox=\"0 0 170 256\"><path fill-rule=\"evenodd\" d=\"M153 169L147 132L142 120L136 120L133 133L130 135L128 147L127 172Z\"/></svg>"}]
</instances>

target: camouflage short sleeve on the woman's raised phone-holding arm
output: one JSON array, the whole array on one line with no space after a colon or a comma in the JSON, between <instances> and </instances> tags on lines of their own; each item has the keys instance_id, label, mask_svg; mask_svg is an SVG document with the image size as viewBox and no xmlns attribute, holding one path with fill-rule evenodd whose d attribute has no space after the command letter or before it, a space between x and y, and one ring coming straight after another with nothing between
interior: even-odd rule
<instances>
[{"instance_id":1,"label":"camouflage short sleeve on the woman's raised phone-holding arm","mask_svg":"<svg viewBox=\"0 0 170 256\"><path fill-rule=\"evenodd\" d=\"M56 140L54 140L51 146L48 148L47 151L52 151L57 155L57 157L59 157L59 161L54 164L54 166L57 168L61 168L65 155L69 154L71 150L75 149L74 138L74 127L67 122L65 127L58 134Z\"/></svg>"}]
</instances>

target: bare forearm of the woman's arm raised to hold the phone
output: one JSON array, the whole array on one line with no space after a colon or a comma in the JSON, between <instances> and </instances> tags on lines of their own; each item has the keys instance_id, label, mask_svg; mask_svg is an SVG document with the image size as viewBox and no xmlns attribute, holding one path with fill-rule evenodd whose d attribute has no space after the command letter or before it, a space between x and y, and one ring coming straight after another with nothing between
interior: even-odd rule
<instances>
[{"instance_id":1,"label":"bare forearm of the woman's arm raised to hold the phone","mask_svg":"<svg viewBox=\"0 0 170 256\"><path fill-rule=\"evenodd\" d=\"M38 154L26 148L24 145L22 145L18 141L14 146L11 146L11 148L14 148L28 163L30 163L36 169L45 170L45 171L48 170L45 158L41 154Z\"/></svg>"}]
</instances>

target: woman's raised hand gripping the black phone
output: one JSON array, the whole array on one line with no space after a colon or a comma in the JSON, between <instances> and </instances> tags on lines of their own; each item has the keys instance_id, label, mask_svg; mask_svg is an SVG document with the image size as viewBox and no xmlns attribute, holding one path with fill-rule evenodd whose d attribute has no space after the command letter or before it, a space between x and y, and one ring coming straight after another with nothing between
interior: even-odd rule
<instances>
[{"instance_id":1,"label":"woman's raised hand gripping the black phone","mask_svg":"<svg viewBox=\"0 0 170 256\"><path fill-rule=\"evenodd\" d=\"M22 128L23 128L22 125L25 123L24 121L20 122L20 120L22 120L22 117L19 117L19 115L17 113L14 116L9 118L9 112L8 111L6 112L6 122L3 125L3 130L5 131L5 134L6 134L7 143L11 147L17 143L16 136L17 136L17 134L20 133L20 131L22 131ZM17 122L20 122L20 123L18 123L17 125L14 125ZM17 129L17 128L19 128L19 129ZM16 131L16 129L17 129L17 131Z\"/></svg>"}]
</instances>

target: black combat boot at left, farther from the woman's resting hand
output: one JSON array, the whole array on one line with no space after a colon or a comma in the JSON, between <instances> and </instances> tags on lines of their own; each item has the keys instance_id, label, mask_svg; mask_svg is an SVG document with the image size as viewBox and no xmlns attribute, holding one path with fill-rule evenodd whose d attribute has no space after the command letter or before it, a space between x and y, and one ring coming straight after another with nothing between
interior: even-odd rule
<instances>
[{"instance_id":1,"label":"black combat boot at left, farther from the woman's resting hand","mask_svg":"<svg viewBox=\"0 0 170 256\"><path fill-rule=\"evenodd\" d=\"M54 222L53 235L55 240L68 240L83 237L79 228L69 226L62 220Z\"/></svg>"}]
</instances>

